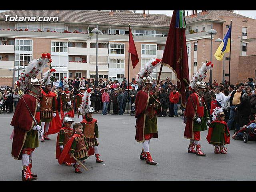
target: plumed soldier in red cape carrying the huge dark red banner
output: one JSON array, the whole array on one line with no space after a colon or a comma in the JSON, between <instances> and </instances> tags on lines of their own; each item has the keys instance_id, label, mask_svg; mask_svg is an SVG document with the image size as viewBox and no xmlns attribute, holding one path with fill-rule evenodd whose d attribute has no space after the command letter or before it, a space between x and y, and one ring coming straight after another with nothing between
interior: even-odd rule
<instances>
[{"instance_id":1,"label":"plumed soldier in red cape carrying the huge dark red banner","mask_svg":"<svg viewBox=\"0 0 256 192\"><path fill-rule=\"evenodd\" d=\"M160 61L160 60L158 60ZM142 90L138 92L135 100L135 118L136 118L136 134L135 140L142 142L142 152L140 159L146 160L146 163L156 165L149 153L149 143L151 138L158 138L157 115L162 112L162 107L158 101L157 94L152 92L152 84L154 78L150 75L150 69L156 66L155 60L150 60L145 67L140 70L137 77L138 85L142 85ZM156 90L158 93L159 90Z\"/></svg>"}]
</instances>

